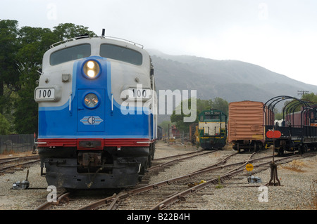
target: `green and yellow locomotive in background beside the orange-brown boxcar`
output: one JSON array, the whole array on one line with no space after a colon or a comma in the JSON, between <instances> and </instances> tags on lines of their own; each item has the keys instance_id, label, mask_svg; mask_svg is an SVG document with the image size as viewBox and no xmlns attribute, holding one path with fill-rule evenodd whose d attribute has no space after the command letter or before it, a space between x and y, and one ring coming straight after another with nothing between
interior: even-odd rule
<instances>
[{"instance_id":1,"label":"green and yellow locomotive in background beside the orange-brown boxcar","mask_svg":"<svg viewBox=\"0 0 317 224\"><path fill-rule=\"evenodd\" d=\"M221 110L204 110L199 114L198 136L205 150L221 149L227 142L227 115Z\"/></svg>"}]
</instances>

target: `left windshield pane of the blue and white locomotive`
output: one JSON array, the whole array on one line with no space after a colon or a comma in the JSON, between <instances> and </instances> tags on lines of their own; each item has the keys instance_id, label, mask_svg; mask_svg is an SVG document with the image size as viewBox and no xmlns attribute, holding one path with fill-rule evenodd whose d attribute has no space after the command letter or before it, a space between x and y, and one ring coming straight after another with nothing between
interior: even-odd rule
<instances>
[{"instance_id":1,"label":"left windshield pane of the blue and white locomotive","mask_svg":"<svg viewBox=\"0 0 317 224\"><path fill-rule=\"evenodd\" d=\"M49 62L51 65L58 65L70 60L76 60L80 58L87 58L91 54L90 44L81 44L77 46L71 46L70 48L64 48L59 51L51 53Z\"/></svg>"}]
</instances>

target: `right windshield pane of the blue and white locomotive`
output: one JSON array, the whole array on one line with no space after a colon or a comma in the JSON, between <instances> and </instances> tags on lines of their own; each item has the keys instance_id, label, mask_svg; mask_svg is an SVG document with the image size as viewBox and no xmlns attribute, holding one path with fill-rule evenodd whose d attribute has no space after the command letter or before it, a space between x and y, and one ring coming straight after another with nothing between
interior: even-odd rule
<instances>
[{"instance_id":1,"label":"right windshield pane of the blue and white locomotive","mask_svg":"<svg viewBox=\"0 0 317 224\"><path fill-rule=\"evenodd\" d=\"M142 65L142 54L130 48L116 46L112 44L101 44L100 56L128 62L133 65Z\"/></svg>"}]
</instances>

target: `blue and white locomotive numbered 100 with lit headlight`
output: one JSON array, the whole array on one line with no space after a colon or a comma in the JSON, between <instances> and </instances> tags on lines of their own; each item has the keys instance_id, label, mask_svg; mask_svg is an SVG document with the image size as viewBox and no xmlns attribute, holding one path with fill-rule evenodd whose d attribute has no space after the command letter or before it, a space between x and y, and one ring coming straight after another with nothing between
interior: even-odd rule
<instances>
[{"instance_id":1,"label":"blue and white locomotive numbered 100 with lit headlight","mask_svg":"<svg viewBox=\"0 0 317 224\"><path fill-rule=\"evenodd\" d=\"M78 37L44 53L37 145L49 185L137 184L154 158L154 69L143 46Z\"/></svg>"}]
</instances>

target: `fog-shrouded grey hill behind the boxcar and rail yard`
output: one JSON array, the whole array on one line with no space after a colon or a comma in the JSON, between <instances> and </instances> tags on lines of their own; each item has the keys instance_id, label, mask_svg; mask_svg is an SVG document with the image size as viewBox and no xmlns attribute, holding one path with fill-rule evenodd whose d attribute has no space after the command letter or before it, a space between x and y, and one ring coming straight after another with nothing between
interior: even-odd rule
<instances>
[{"instance_id":1,"label":"fog-shrouded grey hill behind the boxcar and rail yard","mask_svg":"<svg viewBox=\"0 0 317 224\"><path fill-rule=\"evenodd\" d=\"M317 93L315 85L247 62L167 55L152 49L147 51L154 64L157 90L197 90L197 98L209 100L220 97L229 103L242 100L266 103L278 95L300 98L297 91ZM280 109L282 103L277 106Z\"/></svg>"}]
</instances>

